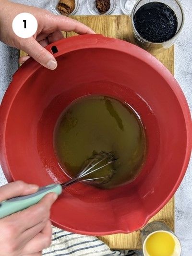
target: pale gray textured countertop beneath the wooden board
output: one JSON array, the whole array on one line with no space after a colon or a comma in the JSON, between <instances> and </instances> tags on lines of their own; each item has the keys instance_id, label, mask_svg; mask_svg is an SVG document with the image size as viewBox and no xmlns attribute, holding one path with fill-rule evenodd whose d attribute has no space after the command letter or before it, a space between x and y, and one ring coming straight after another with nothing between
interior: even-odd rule
<instances>
[{"instance_id":1,"label":"pale gray textured countertop beneath the wooden board","mask_svg":"<svg viewBox=\"0 0 192 256\"><path fill-rule=\"evenodd\" d=\"M132 0L130 0L132 1ZM49 0L14 0L50 10ZM86 0L81 1L86 6ZM119 1L118 1L119 2ZM175 44L175 78L179 82L192 110L192 2L180 0L185 24ZM90 15L87 8L76 14ZM119 3L113 14L122 14ZM0 42L0 101L18 68L18 51ZM0 169L0 185L7 183ZM182 256L192 256L192 161L175 196L175 231L182 245Z\"/></svg>"}]
</instances>

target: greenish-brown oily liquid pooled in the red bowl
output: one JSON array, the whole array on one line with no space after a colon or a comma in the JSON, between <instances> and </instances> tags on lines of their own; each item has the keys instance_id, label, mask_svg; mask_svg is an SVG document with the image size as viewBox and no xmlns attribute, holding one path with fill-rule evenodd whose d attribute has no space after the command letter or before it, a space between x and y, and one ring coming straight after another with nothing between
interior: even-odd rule
<instances>
[{"instance_id":1,"label":"greenish-brown oily liquid pooled in the red bowl","mask_svg":"<svg viewBox=\"0 0 192 256\"><path fill-rule=\"evenodd\" d=\"M132 182L146 152L144 126L138 114L128 104L107 96L87 96L72 102L60 115L53 143L60 166L71 177L92 155L114 152L118 159L110 168L116 172L108 183L99 185L102 188Z\"/></svg>"}]
</instances>

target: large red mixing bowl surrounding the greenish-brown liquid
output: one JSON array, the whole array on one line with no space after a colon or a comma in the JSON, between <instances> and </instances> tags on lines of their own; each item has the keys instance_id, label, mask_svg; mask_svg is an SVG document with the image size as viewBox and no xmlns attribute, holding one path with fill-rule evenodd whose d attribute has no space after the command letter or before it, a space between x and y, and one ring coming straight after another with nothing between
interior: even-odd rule
<instances>
[{"instance_id":1,"label":"large red mixing bowl surrounding the greenish-brown liquid","mask_svg":"<svg viewBox=\"0 0 192 256\"><path fill-rule=\"evenodd\" d=\"M60 113L85 95L129 103L140 115L147 155L140 175L112 190L75 184L53 205L64 230L105 235L138 230L176 192L191 153L191 117L180 86L152 55L130 43L85 35L51 44L58 68L29 60L14 74L0 107L1 166L9 182L40 186L67 179L53 149Z\"/></svg>"}]
</instances>

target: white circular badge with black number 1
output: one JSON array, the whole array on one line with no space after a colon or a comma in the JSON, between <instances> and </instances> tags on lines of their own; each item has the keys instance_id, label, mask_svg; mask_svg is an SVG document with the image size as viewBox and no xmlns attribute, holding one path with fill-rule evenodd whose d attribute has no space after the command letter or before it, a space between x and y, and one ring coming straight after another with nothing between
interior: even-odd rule
<instances>
[{"instance_id":1,"label":"white circular badge with black number 1","mask_svg":"<svg viewBox=\"0 0 192 256\"><path fill-rule=\"evenodd\" d=\"M36 17L28 12L22 12L15 16L12 29L18 37L32 37L37 31L38 23Z\"/></svg>"}]
</instances>

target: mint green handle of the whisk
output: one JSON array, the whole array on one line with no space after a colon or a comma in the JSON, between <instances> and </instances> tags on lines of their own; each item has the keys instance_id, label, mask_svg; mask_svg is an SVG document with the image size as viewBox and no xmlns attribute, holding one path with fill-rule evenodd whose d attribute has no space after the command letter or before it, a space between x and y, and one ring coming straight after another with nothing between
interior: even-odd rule
<instances>
[{"instance_id":1,"label":"mint green handle of the whisk","mask_svg":"<svg viewBox=\"0 0 192 256\"><path fill-rule=\"evenodd\" d=\"M34 194L18 196L0 202L0 219L35 205L50 192L60 195L62 193L62 186L60 184L51 184L40 187Z\"/></svg>"}]
</instances>

